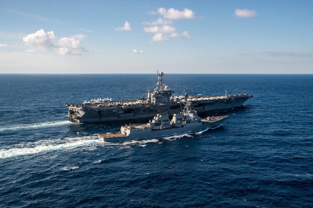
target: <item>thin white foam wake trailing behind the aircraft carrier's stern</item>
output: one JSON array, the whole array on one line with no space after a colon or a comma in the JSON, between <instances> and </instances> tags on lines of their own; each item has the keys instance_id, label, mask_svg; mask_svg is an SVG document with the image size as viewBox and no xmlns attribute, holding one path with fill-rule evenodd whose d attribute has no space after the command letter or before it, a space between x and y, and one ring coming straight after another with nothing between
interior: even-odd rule
<instances>
[{"instance_id":1,"label":"thin white foam wake trailing behind the aircraft carrier's stern","mask_svg":"<svg viewBox=\"0 0 313 208\"><path fill-rule=\"evenodd\" d=\"M0 128L0 132L2 131L15 131L15 130L23 130L23 129L36 129L36 128L44 128L44 127L52 127L52 126L63 126L68 124L74 124L70 121L49 121L44 123L34 123L34 124L19 124L14 126L5 126Z\"/></svg>"}]
</instances>

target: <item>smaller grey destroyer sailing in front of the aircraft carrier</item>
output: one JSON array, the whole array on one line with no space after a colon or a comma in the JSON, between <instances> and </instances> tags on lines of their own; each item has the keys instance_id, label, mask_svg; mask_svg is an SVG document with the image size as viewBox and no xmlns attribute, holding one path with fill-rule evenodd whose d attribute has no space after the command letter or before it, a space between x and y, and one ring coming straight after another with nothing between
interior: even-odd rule
<instances>
[{"instance_id":1,"label":"smaller grey destroyer sailing in front of the aircraft carrier","mask_svg":"<svg viewBox=\"0 0 313 208\"><path fill-rule=\"evenodd\" d=\"M185 105L182 113L174 114L171 121L168 115L157 114L147 124L121 126L119 132L98 133L98 137L101 141L112 142L199 131L220 126L228 117L218 116L201 119L197 111L189 110L189 105L190 103Z\"/></svg>"}]
</instances>

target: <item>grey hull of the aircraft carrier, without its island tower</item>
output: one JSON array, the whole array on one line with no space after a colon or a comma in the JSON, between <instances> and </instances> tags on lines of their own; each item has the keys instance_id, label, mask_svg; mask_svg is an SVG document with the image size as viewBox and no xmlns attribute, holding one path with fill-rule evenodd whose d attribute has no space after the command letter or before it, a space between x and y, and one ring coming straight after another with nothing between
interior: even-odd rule
<instances>
[{"instance_id":1,"label":"grey hull of the aircraft carrier, without its island tower","mask_svg":"<svg viewBox=\"0 0 313 208\"><path fill-rule=\"evenodd\" d=\"M212 96L205 96L212 98ZM203 97L203 98L205 98ZM209 112L219 111L228 108L240 107L244 102L253 95L235 95L228 98L220 98L221 96L214 96L216 100L200 100L193 101L191 107L198 111ZM192 99L192 97L190 97ZM128 102L135 102L136 100L128 100ZM113 101L121 102L121 101ZM122 101L124 102L124 101ZM172 102L168 105L138 105L138 106L110 106L110 107L87 107L80 108L79 106L70 106L69 121L77 123L85 122L99 122L99 121L124 121L129 119L150 118L160 115L173 115L181 111L180 103Z\"/></svg>"}]
</instances>

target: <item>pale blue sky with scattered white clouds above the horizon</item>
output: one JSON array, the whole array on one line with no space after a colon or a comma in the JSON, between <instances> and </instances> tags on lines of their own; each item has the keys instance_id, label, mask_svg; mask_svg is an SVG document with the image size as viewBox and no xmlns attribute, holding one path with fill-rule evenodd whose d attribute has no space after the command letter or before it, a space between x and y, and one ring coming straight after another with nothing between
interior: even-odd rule
<instances>
[{"instance_id":1,"label":"pale blue sky with scattered white clouds above the horizon","mask_svg":"<svg viewBox=\"0 0 313 208\"><path fill-rule=\"evenodd\" d=\"M312 73L313 1L2 1L0 73Z\"/></svg>"}]
</instances>

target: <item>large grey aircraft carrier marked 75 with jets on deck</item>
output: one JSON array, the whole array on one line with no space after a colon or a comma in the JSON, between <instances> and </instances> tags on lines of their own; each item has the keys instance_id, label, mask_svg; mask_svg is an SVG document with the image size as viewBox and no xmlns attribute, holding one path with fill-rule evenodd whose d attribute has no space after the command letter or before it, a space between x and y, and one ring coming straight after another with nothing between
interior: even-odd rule
<instances>
[{"instance_id":1,"label":"large grey aircraft carrier marked 75 with jets on deck","mask_svg":"<svg viewBox=\"0 0 313 208\"><path fill-rule=\"evenodd\" d=\"M163 72L157 72L158 82L154 91L147 91L146 98L134 100L114 101L111 98L98 98L91 101L66 103L69 108L67 116L74 123L95 121L123 121L138 118L151 118L159 115L173 115L182 111L182 101L190 102L192 109L199 113L205 111L218 111L227 108L239 107L253 95L235 94L220 96L172 96L171 91L163 82Z\"/></svg>"}]
</instances>

